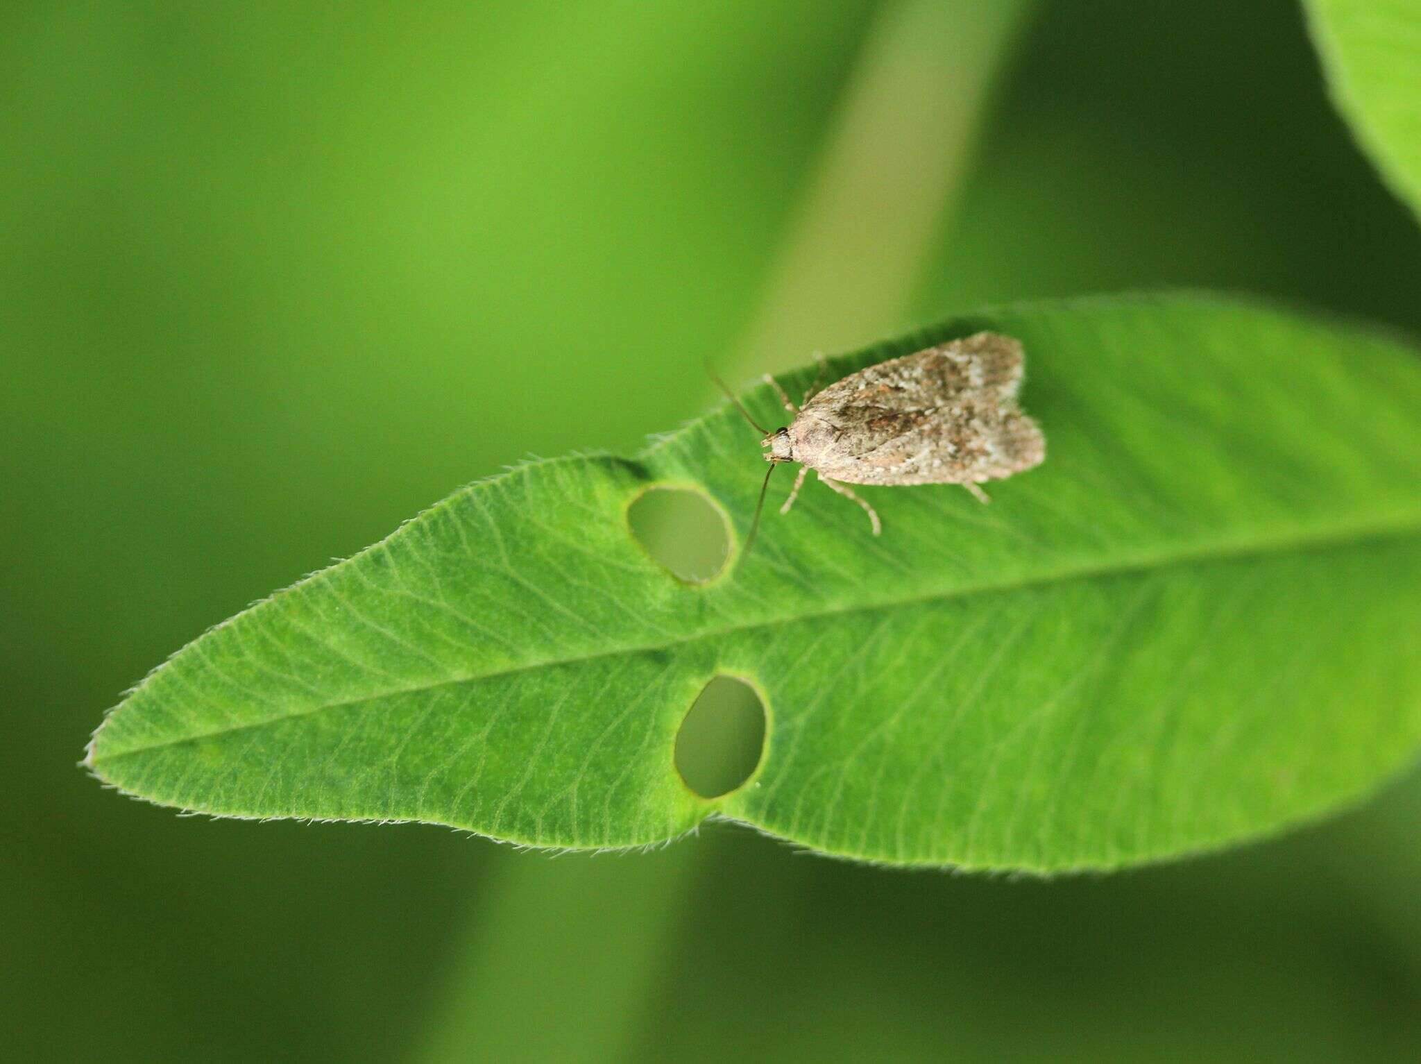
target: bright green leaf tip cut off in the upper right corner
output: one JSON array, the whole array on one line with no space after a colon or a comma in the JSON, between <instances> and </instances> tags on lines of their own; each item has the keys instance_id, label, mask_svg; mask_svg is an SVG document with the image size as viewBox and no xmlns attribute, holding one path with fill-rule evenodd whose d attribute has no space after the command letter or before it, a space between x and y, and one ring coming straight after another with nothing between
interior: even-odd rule
<instances>
[{"instance_id":1,"label":"bright green leaf tip cut off in the upper right corner","mask_svg":"<svg viewBox=\"0 0 1421 1064\"><path fill-rule=\"evenodd\" d=\"M1337 109L1421 215L1421 0L1306 0Z\"/></svg>"}]
</instances>

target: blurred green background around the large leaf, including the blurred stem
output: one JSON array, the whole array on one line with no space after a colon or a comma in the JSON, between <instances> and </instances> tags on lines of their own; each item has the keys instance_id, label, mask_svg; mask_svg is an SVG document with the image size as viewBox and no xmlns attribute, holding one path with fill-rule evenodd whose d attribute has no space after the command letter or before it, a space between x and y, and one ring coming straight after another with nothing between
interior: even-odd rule
<instances>
[{"instance_id":1,"label":"blurred green background around the large leaf, including the blurred stem","mask_svg":"<svg viewBox=\"0 0 1421 1064\"><path fill-rule=\"evenodd\" d=\"M706 358L1162 284L1421 328L1292 3L71 0L0 11L0 1057L1421 1051L1418 778L1039 882L182 818L77 767L207 625L634 449Z\"/></svg>"}]
</instances>

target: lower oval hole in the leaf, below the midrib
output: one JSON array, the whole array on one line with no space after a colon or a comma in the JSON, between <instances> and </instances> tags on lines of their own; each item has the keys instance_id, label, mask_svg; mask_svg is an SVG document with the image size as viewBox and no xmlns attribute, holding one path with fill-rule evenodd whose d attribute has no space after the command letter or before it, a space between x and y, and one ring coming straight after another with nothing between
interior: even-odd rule
<instances>
[{"instance_id":1,"label":"lower oval hole in the leaf, below the midrib","mask_svg":"<svg viewBox=\"0 0 1421 1064\"><path fill-rule=\"evenodd\" d=\"M764 706L745 680L716 676L676 732L676 771L702 798L719 798L755 774L764 751Z\"/></svg>"}]
</instances>

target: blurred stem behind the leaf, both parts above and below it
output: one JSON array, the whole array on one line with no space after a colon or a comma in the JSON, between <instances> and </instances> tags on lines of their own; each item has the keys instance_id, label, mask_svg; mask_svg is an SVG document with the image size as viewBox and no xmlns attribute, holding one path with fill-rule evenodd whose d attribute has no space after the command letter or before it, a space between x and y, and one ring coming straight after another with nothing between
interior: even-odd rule
<instances>
[{"instance_id":1,"label":"blurred stem behind the leaf, both parts above and below it","mask_svg":"<svg viewBox=\"0 0 1421 1064\"><path fill-rule=\"evenodd\" d=\"M902 324L1030 0L880 11L735 376ZM419 1058L622 1058L685 916L698 851L556 861L499 849Z\"/></svg>"}]
</instances>

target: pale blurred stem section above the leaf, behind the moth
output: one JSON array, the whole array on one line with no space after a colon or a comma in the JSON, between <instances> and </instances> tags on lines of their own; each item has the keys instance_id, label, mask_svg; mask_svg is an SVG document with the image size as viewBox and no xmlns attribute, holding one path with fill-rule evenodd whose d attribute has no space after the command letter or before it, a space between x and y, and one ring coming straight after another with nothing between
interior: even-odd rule
<instances>
[{"instance_id":1,"label":"pale blurred stem section above the leaf, behind the moth","mask_svg":"<svg viewBox=\"0 0 1421 1064\"><path fill-rule=\"evenodd\" d=\"M784 369L905 324L1030 0L884 9L743 349Z\"/></svg>"}]
</instances>

